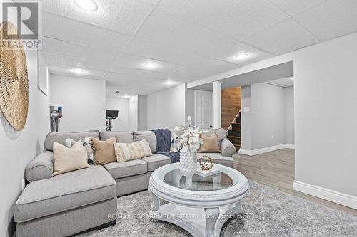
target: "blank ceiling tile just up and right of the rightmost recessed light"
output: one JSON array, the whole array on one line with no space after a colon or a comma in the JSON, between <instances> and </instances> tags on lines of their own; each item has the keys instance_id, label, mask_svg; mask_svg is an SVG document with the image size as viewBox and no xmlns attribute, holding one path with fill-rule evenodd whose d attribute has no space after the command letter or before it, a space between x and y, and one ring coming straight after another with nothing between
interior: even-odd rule
<instances>
[{"instance_id":1,"label":"blank ceiling tile just up and right of the rightmost recessed light","mask_svg":"<svg viewBox=\"0 0 357 237\"><path fill-rule=\"evenodd\" d=\"M310 46L318 43L303 27L293 19L287 19L281 23L266 28L254 36L246 38L243 43L247 43L263 51L276 55L294 51L298 48Z\"/></svg>"}]
</instances>

